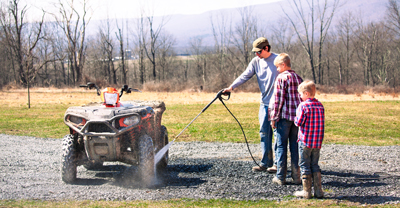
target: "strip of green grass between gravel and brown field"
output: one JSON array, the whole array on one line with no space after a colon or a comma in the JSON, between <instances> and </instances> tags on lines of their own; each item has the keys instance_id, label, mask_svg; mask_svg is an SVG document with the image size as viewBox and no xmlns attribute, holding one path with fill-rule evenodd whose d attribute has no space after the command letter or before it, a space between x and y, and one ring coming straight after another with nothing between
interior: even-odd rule
<instances>
[{"instance_id":1,"label":"strip of green grass between gravel and brown field","mask_svg":"<svg viewBox=\"0 0 400 208\"><path fill-rule=\"evenodd\" d=\"M400 145L400 101L326 102L324 143ZM258 103L229 104L251 143L259 142ZM43 138L68 134L63 123L66 104L39 104L0 108L0 133ZM170 140L205 107L201 104L167 105L162 123ZM234 118L218 101L202 113L176 141L244 142Z\"/></svg>"}]
</instances>

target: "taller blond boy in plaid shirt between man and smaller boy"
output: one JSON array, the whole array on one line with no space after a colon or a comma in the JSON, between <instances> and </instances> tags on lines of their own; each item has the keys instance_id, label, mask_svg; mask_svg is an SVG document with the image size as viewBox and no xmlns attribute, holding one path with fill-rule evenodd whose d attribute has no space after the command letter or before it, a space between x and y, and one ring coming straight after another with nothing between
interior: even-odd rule
<instances>
[{"instance_id":1,"label":"taller blond boy in plaid shirt between man and smaller boy","mask_svg":"<svg viewBox=\"0 0 400 208\"><path fill-rule=\"evenodd\" d=\"M299 149L297 144L298 127L294 125L296 108L301 102L297 87L303 79L291 69L290 57L286 53L279 54L274 61L279 72L275 79L274 95L271 98L271 126L275 133L277 166L276 176L272 182L284 185L287 172L287 146L289 143L292 178L300 184Z\"/></svg>"}]
</instances>

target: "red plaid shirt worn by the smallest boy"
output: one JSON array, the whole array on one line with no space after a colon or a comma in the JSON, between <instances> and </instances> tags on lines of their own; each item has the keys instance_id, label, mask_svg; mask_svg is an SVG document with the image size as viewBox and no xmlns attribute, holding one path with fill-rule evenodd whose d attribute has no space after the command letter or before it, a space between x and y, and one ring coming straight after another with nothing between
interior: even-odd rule
<instances>
[{"instance_id":1,"label":"red plaid shirt worn by the smallest boy","mask_svg":"<svg viewBox=\"0 0 400 208\"><path fill-rule=\"evenodd\" d=\"M300 103L294 124L299 127L297 141L301 140L308 148L321 149L325 131L325 110L321 102L309 98Z\"/></svg>"}]
</instances>

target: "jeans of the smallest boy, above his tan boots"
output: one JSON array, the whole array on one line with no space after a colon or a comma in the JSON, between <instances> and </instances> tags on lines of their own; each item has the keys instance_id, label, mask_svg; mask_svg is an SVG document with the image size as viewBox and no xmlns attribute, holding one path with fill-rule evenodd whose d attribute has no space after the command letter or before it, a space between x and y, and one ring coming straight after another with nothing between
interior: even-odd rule
<instances>
[{"instance_id":1,"label":"jeans of the smallest boy, above his tan boots","mask_svg":"<svg viewBox=\"0 0 400 208\"><path fill-rule=\"evenodd\" d=\"M302 141L299 141L300 153L300 172L301 175L309 175L314 172L321 172L318 165L320 150L318 148L308 148Z\"/></svg>"}]
</instances>

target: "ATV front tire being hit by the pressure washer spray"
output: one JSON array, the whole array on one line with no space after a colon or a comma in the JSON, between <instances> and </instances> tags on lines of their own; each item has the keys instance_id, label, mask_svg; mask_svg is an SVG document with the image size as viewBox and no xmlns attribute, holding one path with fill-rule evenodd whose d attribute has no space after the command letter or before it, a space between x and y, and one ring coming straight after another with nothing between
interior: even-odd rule
<instances>
[{"instance_id":1,"label":"ATV front tire being hit by the pressure washer spray","mask_svg":"<svg viewBox=\"0 0 400 208\"><path fill-rule=\"evenodd\" d=\"M153 140L147 134L139 138L139 174L142 181L149 185L155 177L154 172L154 145Z\"/></svg>"}]
</instances>

